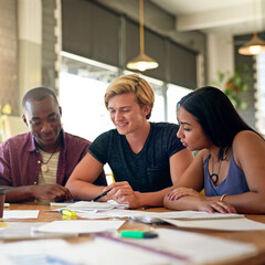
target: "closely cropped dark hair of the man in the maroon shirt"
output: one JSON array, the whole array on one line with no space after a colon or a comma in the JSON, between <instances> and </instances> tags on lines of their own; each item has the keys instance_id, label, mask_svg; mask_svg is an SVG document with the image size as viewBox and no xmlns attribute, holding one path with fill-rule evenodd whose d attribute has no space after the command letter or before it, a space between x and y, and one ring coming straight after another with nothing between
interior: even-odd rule
<instances>
[{"instance_id":1,"label":"closely cropped dark hair of the man in the maroon shirt","mask_svg":"<svg viewBox=\"0 0 265 265\"><path fill-rule=\"evenodd\" d=\"M25 108L25 104L26 102L29 102L30 99L33 99L33 100L42 100L49 96L52 96L55 100L55 103L59 105L59 100L57 100L57 97L55 95L55 93L46 87L35 87L35 88L32 88L30 91L28 91L25 93L25 95L23 96L23 99L22 99L22 107L23 109Z\"/></svg>"}]
</instances>

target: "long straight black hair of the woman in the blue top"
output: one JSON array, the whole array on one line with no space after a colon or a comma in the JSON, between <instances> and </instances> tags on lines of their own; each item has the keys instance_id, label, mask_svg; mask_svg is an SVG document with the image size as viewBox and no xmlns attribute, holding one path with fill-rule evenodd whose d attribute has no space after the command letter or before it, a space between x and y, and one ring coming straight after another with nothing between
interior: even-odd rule
<instances>
[{"instance_id":1,"label":"long straight black hair of the woman in the blue top","mask_svg":"<svg viewBox=\"0 0 265 265\"><path fill-rule=\"evenodd\" d=\"M220 148L219 160L224 159L237 132L256 132L241 118L229 97L219 88L198 88L180 99L177 110L180 106L197 118L204 134Z\"/></svg>"}]
</instances>

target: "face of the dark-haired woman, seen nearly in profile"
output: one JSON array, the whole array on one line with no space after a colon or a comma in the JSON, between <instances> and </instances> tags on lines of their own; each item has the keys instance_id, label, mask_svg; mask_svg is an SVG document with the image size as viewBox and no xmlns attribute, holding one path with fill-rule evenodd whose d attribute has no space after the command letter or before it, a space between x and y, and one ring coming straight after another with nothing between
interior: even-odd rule
<instances>
[{"instance_id":1,"label":"face of the dark-haired woman, seen nearly in profile","mask_svg":"<svg viewBox=\"0 0 265 265\"><path fill-rule=\"evenodd\" d=\"M197 118L187 112L183 107L178 109L178 120L180 128L177 137L181 139L181 142L190 151L202 150L210 148L212 142L205 136L201 125Z\"/></svg>"}]
</instances>

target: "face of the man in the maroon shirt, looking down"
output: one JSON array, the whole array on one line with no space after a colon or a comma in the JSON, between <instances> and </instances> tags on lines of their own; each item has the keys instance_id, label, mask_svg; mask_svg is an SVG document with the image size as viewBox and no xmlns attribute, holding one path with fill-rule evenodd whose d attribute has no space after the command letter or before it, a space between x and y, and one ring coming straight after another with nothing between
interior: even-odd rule
<instances>
[{"instance_id":1,"label":"face of the man in the maroon shirt, looking down","mask_svg":"<svg viewBox=\"0 0 265 265\"><path fill-rule=\"evenodd\" d=\"M24 123L43 151L52 152L60 141L61 108L52 96L42 100L29 99L25 104Z\"/></svg>"}]
</instances>

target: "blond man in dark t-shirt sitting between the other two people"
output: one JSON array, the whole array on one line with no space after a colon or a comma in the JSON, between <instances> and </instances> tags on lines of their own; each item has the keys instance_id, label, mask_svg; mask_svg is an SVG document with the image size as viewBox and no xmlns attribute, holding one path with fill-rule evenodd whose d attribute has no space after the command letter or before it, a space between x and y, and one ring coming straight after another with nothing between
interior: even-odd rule
<instances>
[{"instance_id":1,"label":"blond man in dark t-shirt sitting between the other two people","mask_svg":"<svg viewBox=\"0 0 265 265\"><path fill-rule=\"evenodd\" d=\"M155 94L136 74L114 80L105 94L105 105L116 129L95 139L77 165L66 187L75 199L116 200L129 208L161 206L165 194L177 184L193 156L177 138L178 125L149 123ZM105 163L115 182L107 188L93 183Z\"/></svg>"}]
</instances>

